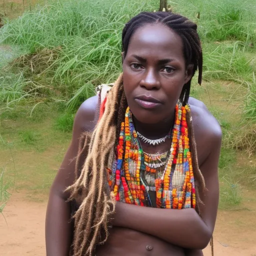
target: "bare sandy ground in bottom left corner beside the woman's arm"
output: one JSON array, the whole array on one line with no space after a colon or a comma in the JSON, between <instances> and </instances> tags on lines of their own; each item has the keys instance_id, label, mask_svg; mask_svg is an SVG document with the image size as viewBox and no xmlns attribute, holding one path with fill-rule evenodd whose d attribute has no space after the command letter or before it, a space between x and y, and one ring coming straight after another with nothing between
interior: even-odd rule
<instances>
[{"instance_id":1,"label":"bare sandy ground in bottom left corner beside the woman's arm","mask_svg":"<svg viewBox=\"0 0 256 256\"><path fill-rule=\"evenodd\" d=\"M1 256L42 256L46 203L27 202L13 194L0 215Z\"/></svg>"}]
</instances>

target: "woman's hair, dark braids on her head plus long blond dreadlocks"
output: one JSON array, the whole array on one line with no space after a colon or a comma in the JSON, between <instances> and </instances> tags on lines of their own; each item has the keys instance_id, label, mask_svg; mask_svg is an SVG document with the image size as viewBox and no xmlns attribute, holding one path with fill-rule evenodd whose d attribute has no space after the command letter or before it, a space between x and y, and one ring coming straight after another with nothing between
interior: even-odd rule
<instances>
[{"instance_id":1,"label":"woman's hair, dark braids on her head plus long blond dreadlocks","mask_svg":"<svg viewBox=\"0 0 256 256\"><path fill-rule=\"evenodd\" d=\"M141 12L127 22L122 31L124 57L129 40L138 27L160 22L175 31L183 41L183 54L186 65L193 64L192 75L198 68L198 83L202 76L202 51L196 24L179 14L171 12ZM184 84L180 100L188 101L191 79ZM67 188L70 200L79 207L74 214L73 255L92 255L97 244L108 237L108 222L114 212L115 199L107 184L106 167L111 166L115 157L115 146L123 121L127 101L124 95L122 74L108 92L105 110L92 133L85 133L80 141L76 158L76 181ZM190 134L193 172L196 180L196 210L200 214L200 192L204 190L203 176L197 162L193 126L188 113L186 116ZM86 155L86 157L85 157ZM84 160L85 158L85 160ZM83 160L81 160L83 159ZM82 164L83 163L83 164Z\"/></svg>"}]
</instances>

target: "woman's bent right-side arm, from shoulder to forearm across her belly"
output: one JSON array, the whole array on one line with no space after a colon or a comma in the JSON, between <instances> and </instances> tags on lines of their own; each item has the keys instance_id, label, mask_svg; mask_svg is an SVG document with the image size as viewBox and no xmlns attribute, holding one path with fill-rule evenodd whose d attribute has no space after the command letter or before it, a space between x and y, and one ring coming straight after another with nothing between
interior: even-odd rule
<instances>
[{"instance_id":1,"label":"woman's bent right-side arm, from shoulder to forearm across her belly","mask_svg":"<svg viewBox=\"0 0 256 256\"><path fill-rule=\"evenodd\" d=\"M201 195L204 202L201 217L192 208L159 209L117 202L113 225L148 233L184 248L206 247L212 236L218 205L217 166L221 144L219 125L216 125L215 130L211 129L206 137L205 146L210 153L200 166L207 188Z\"/></svg>"}]
</instances>

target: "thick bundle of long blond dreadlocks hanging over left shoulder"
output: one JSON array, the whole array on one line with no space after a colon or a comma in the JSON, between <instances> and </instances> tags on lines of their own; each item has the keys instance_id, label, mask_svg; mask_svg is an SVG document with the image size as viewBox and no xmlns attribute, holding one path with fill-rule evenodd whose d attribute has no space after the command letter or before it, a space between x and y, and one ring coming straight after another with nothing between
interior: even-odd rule
<instances>
[{"instance_id":1,"label":"thick bundle of long blond dreadlocks hanging over left shoulder","mask_svg":"<svg viewBox=\"0 0 256 256\"><path fill-rule=\"evenodd\" d=\"M110 195L105 168L114 156L116 134L119 129L121 109L125 110L122 75L107 95L105 111L92 133L80 139L75 164L76 181L67 188L70 200L80 204L74 214L74 256L91 255L95 245L107 236L107 223L114 211L115 199ZM123 105L123 108L120 107ZM120 125L119 125L120 126ZM81 158L84 158L82 169ZM108 165L109 166L109 165Z\"/></svg>"}]
</instances>

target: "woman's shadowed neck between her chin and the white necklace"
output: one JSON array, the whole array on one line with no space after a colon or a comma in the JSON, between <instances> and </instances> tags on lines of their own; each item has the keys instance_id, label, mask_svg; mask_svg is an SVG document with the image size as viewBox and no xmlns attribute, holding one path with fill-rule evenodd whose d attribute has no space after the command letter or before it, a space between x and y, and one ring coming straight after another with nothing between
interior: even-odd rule
<instances>
[{"instance_id":1,"label":"woman's shadowed neck between her chin and the white necklace","mask_svg":"<svg viewBox=\"0 0 256 256\"><path fill-rule=\"evenodd\" d=\"M135 116L132 116L135 130L141 133L143 136L149 139L157 139L164 137L173 127L174 113L170 118L157 123L142 123L138 121Z\"/></svg>"}]
</instances>

